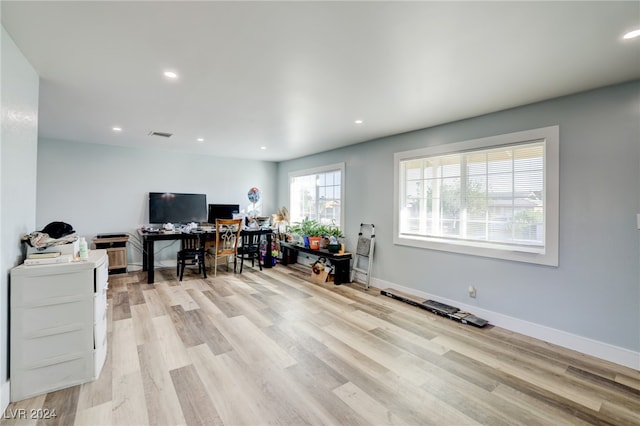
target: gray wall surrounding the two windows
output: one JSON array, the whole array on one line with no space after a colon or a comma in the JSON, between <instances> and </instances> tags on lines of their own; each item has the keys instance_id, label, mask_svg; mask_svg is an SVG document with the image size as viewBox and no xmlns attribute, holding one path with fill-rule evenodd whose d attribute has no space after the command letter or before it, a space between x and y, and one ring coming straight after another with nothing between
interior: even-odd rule
<instances>
[{"instance_id":1,"label":"gray wall surrounding the two windows","mask_svg":"<svg viewBox=\"0 0 640 426\"><path fill-rule=\"evenodd\" d=\"M290 171L346 161L347 248L376 225L373 277L631 351L640 350L640 82L563 97L287 161ZM560 126L560 265L525 263L392 243L393 154ZM467 296L473 284L476 299Z\"/></svg>"}]
</instances>

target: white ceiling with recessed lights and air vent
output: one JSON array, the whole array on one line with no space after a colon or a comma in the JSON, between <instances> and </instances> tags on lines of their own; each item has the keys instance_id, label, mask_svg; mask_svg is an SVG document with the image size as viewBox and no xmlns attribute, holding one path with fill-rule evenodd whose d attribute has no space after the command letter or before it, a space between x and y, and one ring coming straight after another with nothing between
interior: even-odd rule
<instances>
[{"instance_id":1,"label":"white ceiling with recessed lights and air vent","mask_svg":"<svg viewBox=\"0 0 640 426\"><path fill-rule=\"evenodd\" d=\"M40 137L225 157L297 158L640 78L640 39L621 38L638 1L4 0L1 16L41 77Z\"/></svg>"}]
</instances>

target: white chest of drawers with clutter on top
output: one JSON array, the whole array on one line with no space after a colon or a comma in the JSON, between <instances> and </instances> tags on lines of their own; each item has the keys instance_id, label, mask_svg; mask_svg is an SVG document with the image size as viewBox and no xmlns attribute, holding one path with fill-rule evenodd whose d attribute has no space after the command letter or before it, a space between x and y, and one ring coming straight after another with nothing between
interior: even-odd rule
<instances>
[{"instance_id":1,"label":"white chest of drawers with clutter on top","mask_svg":"<svg viewBox=\"0 0 640 426\"><path fill-rule=\"evenodd\" d=\"M11 401L98 378L107 356L106 250L11 270Z\"/></svg>"}]
</instances>

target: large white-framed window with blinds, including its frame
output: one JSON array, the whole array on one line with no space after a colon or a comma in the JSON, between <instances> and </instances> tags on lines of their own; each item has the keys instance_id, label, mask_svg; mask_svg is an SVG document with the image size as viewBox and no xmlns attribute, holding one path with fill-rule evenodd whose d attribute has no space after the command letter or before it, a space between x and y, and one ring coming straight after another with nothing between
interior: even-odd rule
<instances>
[{"instance_id":1,"label":"large white-framed window with blinds, including its frame","mask_svg":"<svg viewBox=\"0 0 640 426\"><path fill-rule=\"evenodd\" d=\"M558 264L558 127L395 155L394 242Z\"/></svg>"}]
</instances>

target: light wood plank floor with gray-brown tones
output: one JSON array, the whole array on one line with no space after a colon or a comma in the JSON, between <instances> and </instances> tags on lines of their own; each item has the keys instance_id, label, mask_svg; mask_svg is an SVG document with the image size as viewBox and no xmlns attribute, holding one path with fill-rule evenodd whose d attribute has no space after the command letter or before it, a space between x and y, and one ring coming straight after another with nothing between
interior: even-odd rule
<instances>
[{"instance_id":1,"label":"light wood plank floor with gray-brown tones","mask_svg":"<svg viewBox=\"0 0 640 426\"><path fill-rule=\"evenodd\" d=\"M640 425L636 370L295 267L174 274L110 277L100 378L0 424Z\"/></svg>"}]
</instances>

